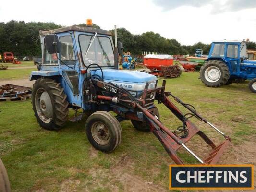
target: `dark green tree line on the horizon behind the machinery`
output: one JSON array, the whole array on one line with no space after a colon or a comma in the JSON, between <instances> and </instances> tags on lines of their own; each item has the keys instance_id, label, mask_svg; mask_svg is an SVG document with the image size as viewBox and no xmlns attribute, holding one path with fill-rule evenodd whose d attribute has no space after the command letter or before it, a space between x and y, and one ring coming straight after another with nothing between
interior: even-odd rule
<instances>
[{"instance_id":1,"label":"dark green tree line on the horizon behind the machinery","mask_svg":"<svg viewBox=\"0 0 256 192\"><path fill-rule=\"evenodd\" d=\"M86 26L86 24L78 24ZM0 23L0 54L3 52L13 52L16 56L40 56L41 47L39 30L52 30L62 27L52 22L28 22L10 21ZM94 27L100 28L94 24ZM114 30L111 30L114 35ZM181 45L176 39L168 39L152 31L142 34L132 34L125 28L117 29L118 40L122 41L124 51L130 51L137 55L142 51L158 52L165 54L194 54L195 49L203 49L204 54L208 54L211 45L202 42L194 45ZM256 48L255 42L248 42L247 48Z\"/></svg>"}]
</instances>

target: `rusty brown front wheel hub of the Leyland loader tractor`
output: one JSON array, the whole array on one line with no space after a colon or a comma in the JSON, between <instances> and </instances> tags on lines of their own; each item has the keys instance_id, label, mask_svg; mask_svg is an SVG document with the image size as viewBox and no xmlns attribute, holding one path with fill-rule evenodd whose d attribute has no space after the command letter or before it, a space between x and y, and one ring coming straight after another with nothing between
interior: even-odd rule
<instances>
[{"instance_id":1,"label":"rusty brown front wheel hub of the Leyland loader tractor","mask_svg":"<svg viewBox=\"0 0 256 192\"><path fill-rule=\"evenodd\" d=\"M107 126L102 122L95 122L92 125L92 136L100 145L106 145L110 140L110 133Z\"/></svg>"}]
</instances>

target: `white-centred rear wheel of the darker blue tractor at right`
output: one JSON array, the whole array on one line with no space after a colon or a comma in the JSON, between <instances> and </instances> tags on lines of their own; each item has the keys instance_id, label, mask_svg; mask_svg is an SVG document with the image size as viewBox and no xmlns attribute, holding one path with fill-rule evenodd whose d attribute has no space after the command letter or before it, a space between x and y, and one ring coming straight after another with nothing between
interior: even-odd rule
<instances>
[{"instance_id":1,"label":"white-centred rear wheel of the darker blue tractor at right","mask_svg":"<svg viewBox=\"0 0 256 192\"><path fill-rule=\"evenodd\" d=\"M200 79L208 87L220 87L230 78L227 65L220 60L209 60L200 69Z\"/></svg>"}]
</instances>

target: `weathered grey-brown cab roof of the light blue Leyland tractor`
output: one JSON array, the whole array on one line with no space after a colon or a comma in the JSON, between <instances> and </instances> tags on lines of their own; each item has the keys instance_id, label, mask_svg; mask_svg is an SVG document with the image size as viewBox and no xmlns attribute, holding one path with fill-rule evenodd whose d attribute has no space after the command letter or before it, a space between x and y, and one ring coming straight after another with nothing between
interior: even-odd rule
<instances>
[{"instance_id":1,"label":"weathered grey-brown cab roof of the light blue Leyland tractor","mask_svg":"<svg viewBox=\"0 0 256 192\"><path fill-rule=\"evenodd\" d=\"M94 28L94 27L81 27L81 26L77 26L77 25L72 25L69 27L61 27L58 29L53 29L53 30L49 30L49 31L39 31L39 34L41 36L46 36L48 34L53 34L58 33L58 32L68 32L68 31L80 31L80 32L89 32L89 33L95 33L97 32L98 34L102 34L102 35L108 35L111 36L112 33L110 31L106 31L103 29L98 29L98 28Z\"/></svg>"}]
</instances>

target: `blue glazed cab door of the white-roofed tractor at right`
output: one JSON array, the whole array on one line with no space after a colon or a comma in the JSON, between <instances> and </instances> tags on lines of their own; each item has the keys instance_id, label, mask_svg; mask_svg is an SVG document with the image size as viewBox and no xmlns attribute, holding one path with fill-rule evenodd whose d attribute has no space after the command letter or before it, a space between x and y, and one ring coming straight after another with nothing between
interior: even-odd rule
<instances>
[{"instance_id":1,"label":"blue glazed cab door of the white-roofed tractor at right","mask_svg":"<svg viewBox=\"0 0 256 192\"><path fill-rule=\"evenodd\" d=\"M240 72L240 56L238 54L240 46L237 44L227 45L226 60L230 63L231 74L238 74Z\"/></svg>"}]
</instances>

